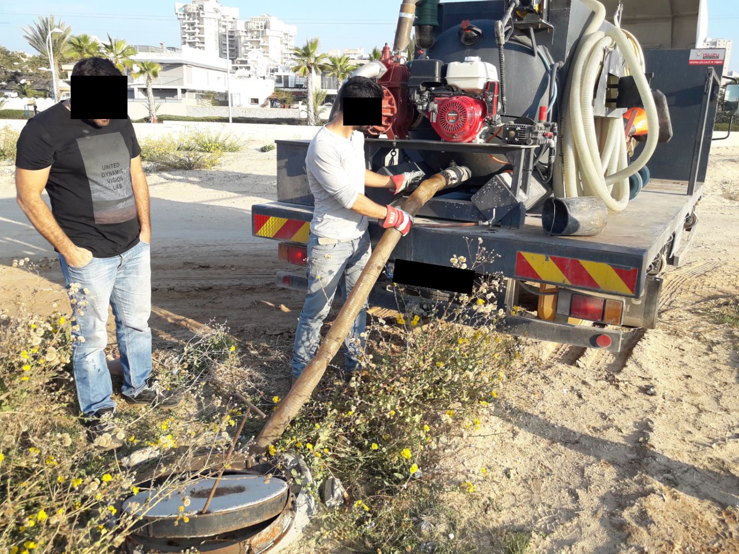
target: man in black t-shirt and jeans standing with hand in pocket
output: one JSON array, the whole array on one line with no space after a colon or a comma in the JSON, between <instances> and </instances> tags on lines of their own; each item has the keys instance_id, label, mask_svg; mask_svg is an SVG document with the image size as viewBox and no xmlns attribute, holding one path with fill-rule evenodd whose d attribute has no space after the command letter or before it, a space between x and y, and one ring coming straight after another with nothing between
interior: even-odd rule
<instances>
[{"instance_id":1,"label":"man in black t-shirt and jeans standing with hand in pocket","mask_svg":"<svg viewBox=\"0 0 739 554\"><path fill-rule=\"evenodd\" d=\"M86 58L72 76L120 75ZM18 138L18 205L61 260L72 303L78 400L96 445L120 445L106 364L108 306L115 315L123 397L174 408L181 397L151 380L149 188L131 120L72 119L71 100L29 120ZM51 211L41 198L46 189ZM118 438L117 438L118 437Z\"/></svg>"}]
</instances>

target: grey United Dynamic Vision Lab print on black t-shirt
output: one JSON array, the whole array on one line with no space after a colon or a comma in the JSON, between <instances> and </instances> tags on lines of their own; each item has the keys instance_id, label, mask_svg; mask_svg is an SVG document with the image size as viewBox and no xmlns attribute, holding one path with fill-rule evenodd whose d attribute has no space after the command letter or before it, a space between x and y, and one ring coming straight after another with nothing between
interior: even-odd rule
<instances>
[{"instance_id":1,"label":"grey United Dynamic Vision Lab print on black t-shirt","mask_svg":"<svg viewBox=\"0 0 739 554\"><path fill-rule=\"evenodd\" d=\"M131 155L120 133L77 139L85 165L95 223L122 223L136 217Z\"/></svg>"}]
</instances>

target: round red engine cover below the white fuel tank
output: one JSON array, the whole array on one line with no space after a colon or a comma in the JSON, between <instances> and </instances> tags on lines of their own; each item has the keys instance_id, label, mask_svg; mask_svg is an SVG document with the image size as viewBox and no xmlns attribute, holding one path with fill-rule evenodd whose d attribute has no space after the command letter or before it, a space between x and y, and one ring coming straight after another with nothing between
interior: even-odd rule
<instances>
[{"instance_id":1,"label":"round red engine cover below the white fuel tank","mask_svg":"<svg viewBox=\"0 0 739 554\"><path fill-rule=\"evenodd\" d=\"M429 113L431 126L450 143L469 143L480 134L485 123L485 103L469 96L435 98L437 113Z\"/></svg>"}]
</instances>

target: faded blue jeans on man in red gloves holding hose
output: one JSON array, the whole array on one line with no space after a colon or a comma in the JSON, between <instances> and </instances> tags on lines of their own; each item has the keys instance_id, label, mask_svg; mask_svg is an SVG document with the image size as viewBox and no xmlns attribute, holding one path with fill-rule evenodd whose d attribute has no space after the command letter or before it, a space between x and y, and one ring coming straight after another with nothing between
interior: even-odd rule
<instances>
[{"instance_id":1,"label":"faded blue jeans on man in red gloves holding hose","mask_svg":"<svg viewBox=\"0 0 739 554\"><path fill-rule=\"evenodd\" d=\"M311 234L307 250L308 290L295 333L293 377L298 377L316 355L321 341L321 326L331 310L336 288L339 284L343 285L341 291L346 301L369 260L372 247L369 244L369 233L364 233L359 239L336 244L319 244L318 238ZM364 349L364 337L361 335L367 326L366 310L367 304L357 315L344 341L347 371L356 369L358 358Z\"/></svg>"}]
</instances>

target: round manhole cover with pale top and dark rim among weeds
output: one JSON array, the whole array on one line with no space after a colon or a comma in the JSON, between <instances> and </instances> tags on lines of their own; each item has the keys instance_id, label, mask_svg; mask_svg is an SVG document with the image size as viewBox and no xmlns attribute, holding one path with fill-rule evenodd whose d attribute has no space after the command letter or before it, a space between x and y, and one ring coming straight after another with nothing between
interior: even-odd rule
<instances>
[{"instance_id":1,"label":"round manhole cover with pale top and dark rim among weeds","mask_svg":"<svg viewBox=\"0 0 739 554\"><path fill-rule=\"evenodd\" d=\"M277 516L285 508L290 487L273 475L237 473L220 479L208 512L208 501L216 479L185 482L179 488L161 493L145 490L123 502L123 510L141 516L140 536L205 537L243 529ZM184 505L187 497L189 504ZM182 510L181 510L182 508ZM185 523L183 516L188 517Z\"/></svg>"}]
</instances>

